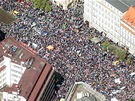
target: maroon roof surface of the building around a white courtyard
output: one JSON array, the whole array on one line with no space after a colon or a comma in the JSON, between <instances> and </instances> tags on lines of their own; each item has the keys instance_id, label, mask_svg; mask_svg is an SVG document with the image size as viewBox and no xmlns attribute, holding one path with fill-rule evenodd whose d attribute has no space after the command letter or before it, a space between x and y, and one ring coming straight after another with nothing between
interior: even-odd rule
<instances>
[{"instance_id":1,"label":"maroon roof surface of the building around a white courtyard","mask_svg":"<svg viewBox=\"0 0 135 101\"><path fill-rule=\"evenodd\" d=\"M50 64L40 58L37 53L26 44L17 42L11 37L7 37L0 44L3 46L4 56L11 58L11 60L17 64L23 65L21 62L25 64L24 67L26 67L26 70L16 86L20 90L19 95L23 96L25 99L29 99L29 97L35 98L41 89L41 85L46 80L47 74L52 70ZM31 63L29 63L28 60L31 61ZM27 65L29 65L29 67ZM11 93L11 91L17 92L16 87L12 85L12 87L4 88L4 91L9 93Z\"/></svg>"}]
</instances>

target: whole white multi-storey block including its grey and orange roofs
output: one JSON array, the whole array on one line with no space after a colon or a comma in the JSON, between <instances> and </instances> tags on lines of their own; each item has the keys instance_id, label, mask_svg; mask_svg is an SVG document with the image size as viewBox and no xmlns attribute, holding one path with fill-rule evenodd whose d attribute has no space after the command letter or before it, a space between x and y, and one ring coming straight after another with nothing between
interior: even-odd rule
<instances>
[{"instance_id":1,"label":"whole white multi-storey block including its grey and orange roofs","mask_svg":"<svg viewBox=\"0 0 135 101\"><path fill-rule=\"evenodd\" d=\"M84 21L135 55L135 34L132 33L135 30L133 24L125 20L129 15L130 21L135 17L134 4L135 0L84 0Z\"/></svg>"}]
</instances>

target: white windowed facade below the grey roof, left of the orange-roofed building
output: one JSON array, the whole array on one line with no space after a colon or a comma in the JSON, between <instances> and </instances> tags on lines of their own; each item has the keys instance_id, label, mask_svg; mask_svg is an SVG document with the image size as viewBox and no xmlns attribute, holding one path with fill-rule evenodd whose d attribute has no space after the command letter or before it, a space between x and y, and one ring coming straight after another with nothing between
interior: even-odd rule
<instances>
[{"instance_id":1,"label":"white windowed facade below the grey roof, left of the orange-roofed building","mask_svg":"<svg viewBox=\"0 0 135 101\"><path fill-rule=\"evenodd\" d=\"M89 21L90 27L100 32L106 32L107 37L119 42L120 19L122 12L105 0L84 0L84 21Z\"/></svg>"}]
</instances>

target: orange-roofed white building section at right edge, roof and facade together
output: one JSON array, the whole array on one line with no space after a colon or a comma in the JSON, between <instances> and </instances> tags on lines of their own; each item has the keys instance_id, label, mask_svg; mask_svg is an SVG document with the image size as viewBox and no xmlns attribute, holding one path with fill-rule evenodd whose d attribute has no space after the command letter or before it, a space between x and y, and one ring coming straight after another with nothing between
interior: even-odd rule
<instances>
[{"instance_id":1,"label":"orange-roofed white building section at right edge, roof and facade together","mask_svg":"<svg viewBox=\"0 0 135 101\"><path fill-rule=\"evenodd\" d=\"M135 55L135 6L131 6L121 19L120 44L126 46Z\"/></svg>"}]
</instances>

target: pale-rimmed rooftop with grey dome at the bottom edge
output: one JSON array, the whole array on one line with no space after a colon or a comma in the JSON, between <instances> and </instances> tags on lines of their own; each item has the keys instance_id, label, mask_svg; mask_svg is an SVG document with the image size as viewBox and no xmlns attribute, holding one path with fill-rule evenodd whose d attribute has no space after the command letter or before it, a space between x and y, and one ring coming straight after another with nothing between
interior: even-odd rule
<instances>
[{"instance_id":1,"label":"pale-rimmed rooftop with grey dome at the bottom edge","mask_svg":"<svg viewBox=\"0 0 135 101\"><path fill-rule=\"evenodd\" d=\"M76 82L69 91L66 101L106 101L104 95L83 82Z\"/></svg>"}]
</instances>

